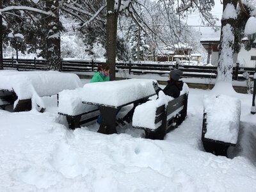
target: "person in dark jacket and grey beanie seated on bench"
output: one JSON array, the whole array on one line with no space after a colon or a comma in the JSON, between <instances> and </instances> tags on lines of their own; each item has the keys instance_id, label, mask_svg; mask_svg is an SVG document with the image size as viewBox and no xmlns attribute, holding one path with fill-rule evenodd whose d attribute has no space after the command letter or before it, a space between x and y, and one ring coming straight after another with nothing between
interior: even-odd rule
<instances>
[{"instance_id":1,"label":"person in dark jacket and grey beanie seated on bench","mask_svg":"<svg viewBox=\"0 0 256 192\"><path fill-rule=\"evenodd\" d=\"M153 81L153 86L158 96L160 91L163 91L165 95L171 96L173 98L177 98L180 96L180 91L182 90L183 82L179 81L180 76L182 76L183 72L178 69L174 69L169 74L169 81L167 81L166 87L162 90L159 88L157 83Z\"/></svg>"}]
</instances>

